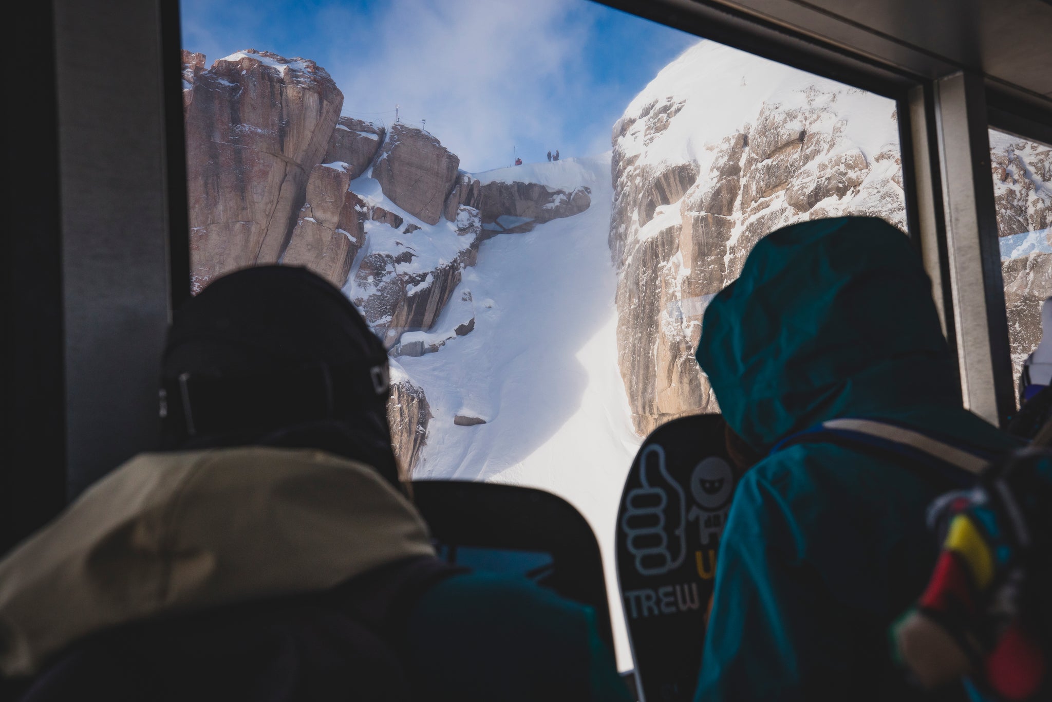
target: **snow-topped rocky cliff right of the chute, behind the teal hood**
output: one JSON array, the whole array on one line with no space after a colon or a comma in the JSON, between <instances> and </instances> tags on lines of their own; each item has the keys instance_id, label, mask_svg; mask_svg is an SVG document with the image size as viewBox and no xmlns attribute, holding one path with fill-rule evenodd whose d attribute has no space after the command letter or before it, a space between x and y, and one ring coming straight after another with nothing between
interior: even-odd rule
<instances>
[{"instance_id":1,"label":"snow-topped rocky cliff right of the chute, behind the teal hood","mask_svg":"<svg viewBox=\"0 0 1052 702\"><path fill-rule=\"evenodd\" d=\"M764 235L818 217L905 228L894 103L702 42L614 124L609 246L638 433L715 398L693 360L711 297Z\"/></svg>"}]
</instances>

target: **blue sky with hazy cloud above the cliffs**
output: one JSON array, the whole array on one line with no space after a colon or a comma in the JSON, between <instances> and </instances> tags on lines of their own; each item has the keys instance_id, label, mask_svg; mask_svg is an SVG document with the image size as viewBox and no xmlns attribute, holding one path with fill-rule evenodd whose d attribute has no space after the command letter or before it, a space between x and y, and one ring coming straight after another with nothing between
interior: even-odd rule
<instances>
[{"instance_id":1,"label":"blue sky with hazy cloud above the cliffs","mask_svg":"<svg viewBox=\"0 0 1052 702\"><path fill-rule=\"evenodd\" d=\"M610 148L629 101L697 41L589 0L182 0L183 46L313 59L343 113L419 125L466 171Z\"/></svg>"}]
</instances>

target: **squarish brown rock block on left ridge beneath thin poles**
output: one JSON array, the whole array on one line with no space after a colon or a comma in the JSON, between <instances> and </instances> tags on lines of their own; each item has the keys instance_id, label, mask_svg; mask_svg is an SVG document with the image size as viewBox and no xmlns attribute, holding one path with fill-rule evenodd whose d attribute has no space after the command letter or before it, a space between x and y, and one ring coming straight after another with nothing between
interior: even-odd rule
<instances>
[{"instance_id":1,"label":"squarish brown rock block on left ridge beneath thin poles","mask_svg":"<svg viewBox=\"0 0 1052 702\"><path fill-rule=\"evenodd\" d=\"M423 129L394 124L372 165L384 195L413 217L438 224L460 159Z\"/></svg>"}]
</instances>

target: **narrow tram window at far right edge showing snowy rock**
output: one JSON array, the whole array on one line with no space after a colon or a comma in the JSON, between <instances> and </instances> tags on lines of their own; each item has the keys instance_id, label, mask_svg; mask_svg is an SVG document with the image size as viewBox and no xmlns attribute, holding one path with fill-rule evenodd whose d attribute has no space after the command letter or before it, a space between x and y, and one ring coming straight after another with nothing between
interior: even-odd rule
<instances>
[{"instance_id":1,"label":"narrow tram window at far right edge showing snowy rock","mask_svg":"<svg viewBox=\"0 0 1052 702\"><path fill-rule=\"evenodd\" d=\"M1018 393L1023 362L1041 340L1041 302L1052 296L1052 146L990 129L990 164Z\"/></svg>"}]
</instances>

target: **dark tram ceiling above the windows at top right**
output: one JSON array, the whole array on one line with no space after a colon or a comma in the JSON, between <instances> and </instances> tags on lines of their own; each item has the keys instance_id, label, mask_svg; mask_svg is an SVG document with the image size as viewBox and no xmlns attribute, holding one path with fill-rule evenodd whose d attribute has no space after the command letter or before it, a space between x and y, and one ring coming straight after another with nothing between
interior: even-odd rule
<instances>
[{"instance_id":1,"label":"dark tram ceiling above the windows at top right","mask_svg":"<svg viewBox=\"0 0 1052 702\"><path fill-rule=\"evenodd\" d=\"M978 73L988 87L1052 114L1050 0L605 1L769 58L792 55L796 64L838 54L836 67L892 82L881 74Z\"/></svg>"}]
</instances>

